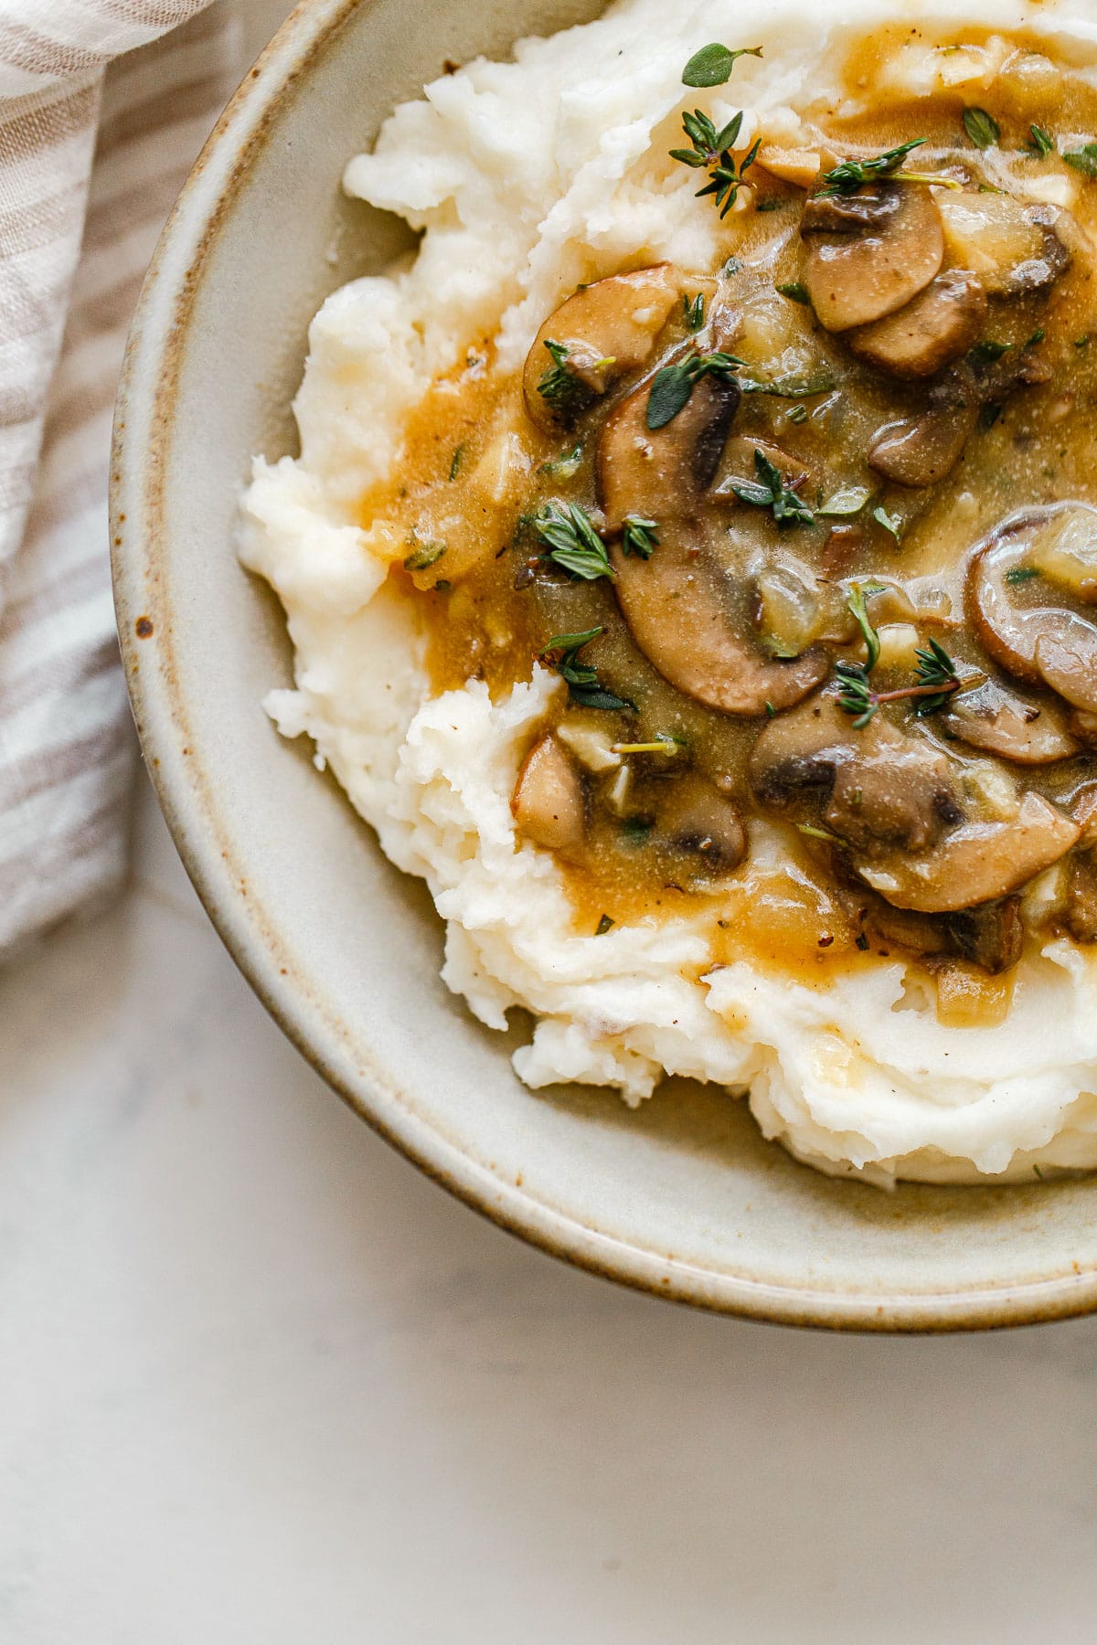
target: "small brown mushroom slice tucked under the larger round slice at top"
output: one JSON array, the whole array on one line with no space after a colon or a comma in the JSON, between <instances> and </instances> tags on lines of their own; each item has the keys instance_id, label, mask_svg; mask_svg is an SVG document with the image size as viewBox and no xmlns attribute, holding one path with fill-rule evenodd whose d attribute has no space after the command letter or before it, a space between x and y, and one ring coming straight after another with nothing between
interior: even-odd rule
<instances>
[{"instance_id":1,"label":"small brown mushroom slice tucked under the larger round slice at top","mask_svg":"<svg viewBox=\"0 0 1097 1645\"><path fill-rule=\"evenodd\" d=\"M987 293L977 276L946 268L895 314L847 331L845 342L860 360L891 377L933 377L967 354L985 317Z\"/></svg>"}]
</instances>

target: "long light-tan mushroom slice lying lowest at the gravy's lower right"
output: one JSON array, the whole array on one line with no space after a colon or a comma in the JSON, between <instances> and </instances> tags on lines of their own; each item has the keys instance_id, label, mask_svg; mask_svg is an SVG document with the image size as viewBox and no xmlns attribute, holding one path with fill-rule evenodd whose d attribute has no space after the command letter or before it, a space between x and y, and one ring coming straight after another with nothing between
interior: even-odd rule
<instances>
[{"instance_id":1,"label":"long light-tan mushroom slice lying lowest at the gravy's lower right","mask_svg":"<svg viewBox=\"0 0 1097 1645\"><path fill-rule=\"evenodd\" d=\"M896 908L952 913L1016 892L1064 857L1079 834L1077 822L1030 791L1008 821L964 822L918 855L855 857L854 867Z\"/></svg>"}]
</instances>

